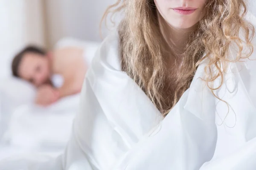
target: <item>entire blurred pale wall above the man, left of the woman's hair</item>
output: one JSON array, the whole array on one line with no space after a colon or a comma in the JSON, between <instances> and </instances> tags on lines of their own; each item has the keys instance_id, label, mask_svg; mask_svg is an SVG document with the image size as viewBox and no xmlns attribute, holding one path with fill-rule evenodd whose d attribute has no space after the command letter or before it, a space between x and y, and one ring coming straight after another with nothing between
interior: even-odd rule
<instances>
[{"instance_id":1,"label":"entire blurred pale wall above the man, left of the woman's hair","mask_svg":"<svg viewBox=\"0 0 256 170\"><path fill-rule=\"evenodd\" d=\"M0 0L0 75L26 44L53 48L63 37L101 41L99 22L115 0ZM103 32L107 32L103 28ZM3 64L5 63L5 64ZM5 67L5 68L3 68Z\"/></svg>"}]
</instances>

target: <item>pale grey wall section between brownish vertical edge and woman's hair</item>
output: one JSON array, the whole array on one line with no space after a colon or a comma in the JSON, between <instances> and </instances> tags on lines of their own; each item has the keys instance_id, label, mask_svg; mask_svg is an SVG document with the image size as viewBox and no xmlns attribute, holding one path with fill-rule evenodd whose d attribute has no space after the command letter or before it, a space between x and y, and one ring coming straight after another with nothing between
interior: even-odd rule
<instances>
[{"instance_id":1,"label":"pale grey wall section between brownish vertical edge and woman's hair","mask_svg":"<svg viewBox=\"0 0 256 170\"><path fill-rule=\"evenodd\" d=\"M65 36L100 41L99 23L116 0L46 0L49 45Z\"/></svg>"}]
</instances>

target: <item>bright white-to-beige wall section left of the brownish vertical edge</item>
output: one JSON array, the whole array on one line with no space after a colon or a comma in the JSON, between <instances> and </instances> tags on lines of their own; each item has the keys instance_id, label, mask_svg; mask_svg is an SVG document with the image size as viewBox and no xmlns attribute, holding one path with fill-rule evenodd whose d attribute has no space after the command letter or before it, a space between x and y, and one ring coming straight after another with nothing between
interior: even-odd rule
<instances>
[{"instance_id":1,"label":"bright white-to-beige wall section left of the brownish vertical edge","mask_svg":"<svg viewBox=\"0 0 256 170\"><path fill-rule=\"evenodd\" d=\"M17 50L44 45L43 28L41 0L0 0L0 77L11 73Z\"/></svg>"}]
</instances>

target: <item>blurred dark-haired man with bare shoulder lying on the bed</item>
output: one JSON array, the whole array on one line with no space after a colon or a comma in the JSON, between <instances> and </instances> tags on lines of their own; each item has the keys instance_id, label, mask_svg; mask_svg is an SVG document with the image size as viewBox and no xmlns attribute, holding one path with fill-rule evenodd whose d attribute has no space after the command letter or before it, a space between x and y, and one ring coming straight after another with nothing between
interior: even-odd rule
<instances>
[{"instance_id":1,"label":"blurred dark-haired man with bare shoulder lying on the bed","mask_svg":"<svg viewBox=\"0 0 256 170\"><path fill-rule=\"evenodd\" d=\"M79 93L87 70L84 49L60 48L46 52L35 46L20 51L12 61L12 73L38 87L35 102L47 106L58 99ZM55 87L51 78L58 74L63 78L61 87Z\"/></svg>"}]
</instances>

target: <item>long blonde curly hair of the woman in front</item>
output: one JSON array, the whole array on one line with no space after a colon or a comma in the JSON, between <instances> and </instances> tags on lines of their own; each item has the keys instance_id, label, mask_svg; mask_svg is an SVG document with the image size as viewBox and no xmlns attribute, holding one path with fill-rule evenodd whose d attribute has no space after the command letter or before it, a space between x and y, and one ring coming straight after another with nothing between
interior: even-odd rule
<instances>
[{"instance_id":1,"label":"long blonde curly hair of the woman in front","mask_svg":"<svg viewBox=\"0 0 256 170\"><path fill-rule=\"evenodd\" d=\"M124 19L118 28L122 69L137 82L163 116L189 88L202 60L209 59L205 67L207 78L204 80L214 91L224 82L225 65L248 58L253 52L251 40L255 34L254 27L244 19L247 13L244 0L207 0L204 10L205 16L186 44L182 64L173 74L166 68L170 49L163 45L166 42L160 31L154 0L117 0L102 18L103 21L110 13L123 12ZM238 49L233 60L229 55L231 44ZM245 48L249 49L247 53L243 52ZM219 87L210 87L209 82L217 78L221 79ZM170 86L175 86L174 93L171 93Z\"/></svg>"}]
</instances>

